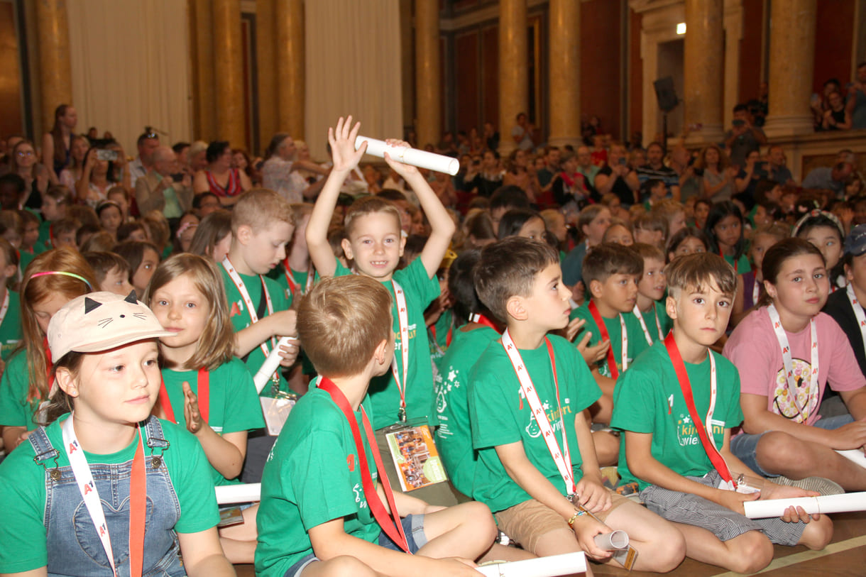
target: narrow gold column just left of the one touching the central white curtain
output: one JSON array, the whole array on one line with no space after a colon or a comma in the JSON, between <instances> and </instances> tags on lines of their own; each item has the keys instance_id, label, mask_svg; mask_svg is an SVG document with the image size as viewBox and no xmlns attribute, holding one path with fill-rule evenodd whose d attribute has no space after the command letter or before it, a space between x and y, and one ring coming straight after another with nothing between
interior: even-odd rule
<instances>
[{"instance_id":1,"label":"narrow gold column just left of the one touching the central white curtain","mask_svg":"<svg viewBox=\"0 0 866 577\"><path fill-rule=\"evenodd\" d=\"M279 132L276 70L276 0L255 2L255 60L258 68L259 139L264 152L274 133Z\"/></svg>"}]
</instances>

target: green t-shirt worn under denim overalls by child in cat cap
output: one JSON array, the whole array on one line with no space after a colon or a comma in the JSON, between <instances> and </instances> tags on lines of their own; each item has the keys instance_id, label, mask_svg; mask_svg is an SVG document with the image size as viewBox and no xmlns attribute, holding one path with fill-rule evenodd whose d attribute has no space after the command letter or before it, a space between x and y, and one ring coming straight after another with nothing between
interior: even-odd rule
<instances>
[{"instance_id":1,"label":"green t-shirt worn under denim overalls by child in cat cap","mask_svg":"<svg viewBox=\"0 0 866 577\"><path fill-rule=\"evenodd\" d=\"M61 467L69 464L63 451L62 420L65 417L45 430L51 444L60 452L57 464ZM165 440L170 444L163 452L164 462L180 504L180 518L174 529L178 533L198 533L216 526L219 522L216 495L201 445L178 425L162 421L162 427ZM137 444L138 436L122 451L107 455L85 452L85 456L90 464L122 464L132 460ZM0 573L29 571L48 564L45 470L34 463L34 456L33 445L24 441L0 464L0 502L3 503L0 507L0 542L3 543ZM53 464L52 459L46 465ZM87 518L86 512L84 515ZM90 546L101 552L100 543L90 543Z\"/></svg>"}]
</instances>

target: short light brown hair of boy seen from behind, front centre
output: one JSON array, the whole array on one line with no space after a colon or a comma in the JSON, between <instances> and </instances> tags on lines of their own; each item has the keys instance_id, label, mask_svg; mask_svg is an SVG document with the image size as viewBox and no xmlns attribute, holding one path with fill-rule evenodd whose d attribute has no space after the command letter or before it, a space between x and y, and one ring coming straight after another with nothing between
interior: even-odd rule
<instances>
[{"instance_id":1,"label":"short light brown hair of boy seen from behind, front centre","mask_svg":"<svg viewBox=\"0 0 866 577\"><path fill-rule=\"evenodd\" d=\"M328 378L364 370L390 340L391 293L369 276L324 278L298 306L298 336L316 371Z\"/></svg>"}]
</instances>

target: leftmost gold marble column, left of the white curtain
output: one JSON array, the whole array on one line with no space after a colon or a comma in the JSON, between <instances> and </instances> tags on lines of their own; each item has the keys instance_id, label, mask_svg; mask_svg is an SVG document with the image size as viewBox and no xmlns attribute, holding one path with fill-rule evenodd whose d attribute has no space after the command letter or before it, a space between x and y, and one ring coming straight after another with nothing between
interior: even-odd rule
<instances>
[{"instance_id":1,"label":"leftmost gold marble column, left of the white curtain","mask_svg":"<svg viewBox=\"0 0 866 577\"><path fill-rule=\"evenodd\" d=\"M69 63L69 21L65 0L36 2L39 38L39 83L42 88L42 128L54 126L54 111L72 104L72 68Z\"/></svg>"}]
</instances>

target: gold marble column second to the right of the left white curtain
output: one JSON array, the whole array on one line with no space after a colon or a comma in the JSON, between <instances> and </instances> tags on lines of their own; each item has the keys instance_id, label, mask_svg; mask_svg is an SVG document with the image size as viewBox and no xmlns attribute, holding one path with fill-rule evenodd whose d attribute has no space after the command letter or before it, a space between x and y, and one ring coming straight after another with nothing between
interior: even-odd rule
<instances>
[{"instance_id":1,"label":"gold marble column second to the right of the left white curtain","mask_svg":"<svg viewBox=\"0 0 866 577\"><path fill-rule=\"evenodd\" d=\"M217 138L231 146L247 146L243 109L243 64L240 0L213 0L213 55L217 75L211 85L216 92Z\"/></svg>"}]
</instances>

